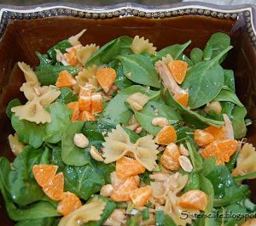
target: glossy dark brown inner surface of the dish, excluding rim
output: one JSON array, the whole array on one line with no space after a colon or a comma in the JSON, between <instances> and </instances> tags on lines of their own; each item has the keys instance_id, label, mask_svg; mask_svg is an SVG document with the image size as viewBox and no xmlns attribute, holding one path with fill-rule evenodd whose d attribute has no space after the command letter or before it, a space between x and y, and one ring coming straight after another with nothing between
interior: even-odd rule
<instances>
[{"instance_id":1,"label":"glossy dark brown inner surface of the dish, excluding rim","mask_svg":"<svg viewBox=\"0 0 256 226\"><path fill-rule=\"evenodd\" d=\"M19 89L24 77L16 65L24 61L28 65L36 66L39 61L35 54L46 51L63 39L73 36L79 31L87 29L80 41L96 43L102 46L106 42L120 36L148 38L157 49L175 43L192 40L187 54L194 48L204 48L212 33L217 31L230 35L233 49L224 62L224 68L235 71L236 93L248 110L248 117L256 120L256 54L247 37L245 22L243 20L219 20L199 16L180 16L172 19L143 19L135 17L116 18L111 20L86 20L79 18L45 18L38 20L20 20L10 24L0 42L0 136L1 155L9 160L14 159L9 144L8 135L14 133L5 109L9 100L24 99ZM247 141L256 145L256 128L250 126ZM255 180L249 181L252 193L256 194ZM254 185L253 185L254 184ZM219 184L223 186L223 184ZM252 195L253 201L256 196ZM3 225L14 225L0 198L0 219Z\"/></svg>"}]
</instances>

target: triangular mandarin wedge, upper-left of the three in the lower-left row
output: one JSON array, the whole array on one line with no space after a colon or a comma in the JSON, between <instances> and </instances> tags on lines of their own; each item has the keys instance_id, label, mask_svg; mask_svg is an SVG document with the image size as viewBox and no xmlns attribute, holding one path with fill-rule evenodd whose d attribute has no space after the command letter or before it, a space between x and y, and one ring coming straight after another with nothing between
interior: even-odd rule
<instances>
[{"instance_id":1,"label":"triangular mandarin wedge, upper-left of the three in the lower-left row","mask_svg":"<svg viewBox=\"0 0 256 226\"><path fill-rule=\"evenodd\" d=\"M49 184L49 181L55 177L58 167L55 165L34 165L32 167L32 172L34 178L41 187L44 187L45 184Z\"/></svg>"}]
</instances>

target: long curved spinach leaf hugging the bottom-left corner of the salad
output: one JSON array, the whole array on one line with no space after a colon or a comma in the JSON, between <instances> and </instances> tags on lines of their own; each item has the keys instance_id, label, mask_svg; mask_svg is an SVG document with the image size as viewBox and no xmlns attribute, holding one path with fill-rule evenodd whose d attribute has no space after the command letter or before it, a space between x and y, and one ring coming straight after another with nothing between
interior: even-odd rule
<instances>
[{"instance_id":1,"label":"long curved spinach leaf hugging the bottom-left corner of the salad","mask_svg":"<svg viewBox=\"0 0 256 226\"><path fill-rule=\"evenodd\" d=\"M3 195L3 200L5 202L9 218L14 221L23 221L61 215L59 212L57 212L55 206L47 201L38 201L23 208L18 208L15 206L9 195L8 176L10 171L11 169L9 161L4 157L0 157L0 190Z\"/></svg>"}]
</instances>

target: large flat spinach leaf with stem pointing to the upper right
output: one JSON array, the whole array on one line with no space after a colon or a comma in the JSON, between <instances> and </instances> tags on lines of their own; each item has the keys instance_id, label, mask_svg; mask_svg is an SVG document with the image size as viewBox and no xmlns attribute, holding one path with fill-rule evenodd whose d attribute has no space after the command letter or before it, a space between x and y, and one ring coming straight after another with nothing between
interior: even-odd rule
<instances>
[{"instance_id":1,"label":"large flat spinach leaf with stem pointing to the upper right","mask_svg":"<svg viewBox=\"0 0 256 226\"><path fill-rule=\"evenodd\" d=\"M206 105L214 99L224 85L224 71L218 60L230 48L225 48L215 58L203 61L193 66L187 73L183 88L189 88L189 107L195 109Z\"/></svg>"}]
</instances>

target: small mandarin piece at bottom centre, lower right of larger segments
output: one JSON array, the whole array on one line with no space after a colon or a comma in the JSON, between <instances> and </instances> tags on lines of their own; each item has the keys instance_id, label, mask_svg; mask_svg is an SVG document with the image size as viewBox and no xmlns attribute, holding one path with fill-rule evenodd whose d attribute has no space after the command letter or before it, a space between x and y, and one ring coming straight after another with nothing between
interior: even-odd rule
<instances>
[{"instance_id":1,"label":"small mandarin piece at bottom centre, lower right of larger segments","mask_svg":"<svg viewBox=\"0 0 256 226\"><path fill-rule=\"evenodd\" d=\"M138 207L145 206L152 196L152 189L150 186L135 189L131 191L130 198L133 204Z\"/></svg>"}]
</instances>

